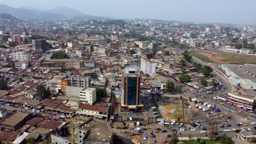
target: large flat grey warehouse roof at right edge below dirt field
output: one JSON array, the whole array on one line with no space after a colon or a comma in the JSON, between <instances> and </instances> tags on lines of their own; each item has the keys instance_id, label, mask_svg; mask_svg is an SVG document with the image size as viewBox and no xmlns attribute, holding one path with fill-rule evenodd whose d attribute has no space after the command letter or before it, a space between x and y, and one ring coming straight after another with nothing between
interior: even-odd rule
<instances>
[{"instance_id":1,"label":"large flat grey warehouse roof at right edge below dirt field","mask_svg":"<svg viewBox=\"0 0 256 144\"><path fill-rule=\"evenodd\" d=\"M256 82L256 64L224 64L223 66L231 70L241 79L247 79Z\"/></svg>"}]
</instances>

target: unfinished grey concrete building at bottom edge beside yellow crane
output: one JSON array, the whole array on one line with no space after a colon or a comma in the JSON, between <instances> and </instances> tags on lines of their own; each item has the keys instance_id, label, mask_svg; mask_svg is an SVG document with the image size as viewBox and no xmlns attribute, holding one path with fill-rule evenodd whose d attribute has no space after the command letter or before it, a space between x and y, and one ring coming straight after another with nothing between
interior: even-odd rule
<instances>
[{"instance_id":1,"label":"unfinished grey concrete building at bottom edge beside yellow crane","mask_svg":"<svg viewBox=\"0 0 256 144\"><path fill-rule=\"evenodd\" d=\"M88 118L74 128L75 143L77 144L112 144L113 131L107 122L99 119ZM71 124L65 125L51 134L51 143L71 144Z\"/></svg>"}]
</instances>

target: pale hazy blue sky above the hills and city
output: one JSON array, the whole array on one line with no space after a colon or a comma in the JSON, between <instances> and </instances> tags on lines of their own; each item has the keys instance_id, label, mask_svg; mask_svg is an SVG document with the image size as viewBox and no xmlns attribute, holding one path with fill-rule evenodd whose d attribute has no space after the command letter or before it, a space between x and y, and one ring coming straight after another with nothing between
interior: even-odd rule
<instances>
[{"instance_id":1,"label":"pale hazy blue sky above the hills and city","mask_svg":"<svg viewBox=\"0 0 256 144\"><path fill-rule=\"evenodd\" d=\"M186 22L256 23L256 0L0 0L10 7L68 7L96 16Z\"/></svg>"}]
</instances>

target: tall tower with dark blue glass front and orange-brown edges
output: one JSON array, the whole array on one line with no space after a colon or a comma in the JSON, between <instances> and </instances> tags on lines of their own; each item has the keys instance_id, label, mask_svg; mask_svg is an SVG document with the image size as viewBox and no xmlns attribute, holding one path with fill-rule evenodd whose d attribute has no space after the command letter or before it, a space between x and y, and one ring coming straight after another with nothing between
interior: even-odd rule
<instances>
[{"instance_id":1,"label":"tall tower with dark blue glass front and orange-brown edges","mask_svg":"<svg viewBox=\"0 0 256 144\"><path fill-rule=\"evenodd\" d=\"M138 67L126 67L123 71L123 94L121 97L121 110L143 110L140 96L141 74Z\"/></svg>"}]
</instances>

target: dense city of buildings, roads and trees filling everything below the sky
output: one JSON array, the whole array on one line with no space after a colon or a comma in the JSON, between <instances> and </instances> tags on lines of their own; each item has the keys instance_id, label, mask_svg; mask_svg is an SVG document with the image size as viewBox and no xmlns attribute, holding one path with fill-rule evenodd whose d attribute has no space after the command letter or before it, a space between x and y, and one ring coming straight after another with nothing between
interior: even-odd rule
<instances>
[{"instance_id":1,"label":"dense city of buildings, roads and trees filling everything below the sky","mask_svg":"<svg viewBox=\"0 0 256 144\"><path fill-rule=\"evenodd\" d=\"M0 8L0 143L256 143L255 24Z\"/></svg>"}]
</instances>

